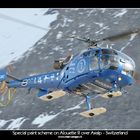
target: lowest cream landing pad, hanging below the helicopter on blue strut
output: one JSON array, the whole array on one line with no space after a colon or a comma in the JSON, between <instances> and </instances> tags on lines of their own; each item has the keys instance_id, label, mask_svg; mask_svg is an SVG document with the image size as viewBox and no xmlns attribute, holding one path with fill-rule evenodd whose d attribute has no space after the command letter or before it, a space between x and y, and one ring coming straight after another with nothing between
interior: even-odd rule
<instances>
[{"instance_id":1,"label":"lowest cream landing pad, hanging below the helicopter on blue strut","mask_svg":"<svg viewBox=\"0 0 140 140\"><path fill-rule=\"evenodd\" d=\"M81 112L80 115L87 117L87 118L91 118L93 116L97 116L97 115L100 115L102 113L105 113L106 111L107 110L104 107L93 108L93 109L90 109L88 111Z\"/></svg>"}]
</instances>

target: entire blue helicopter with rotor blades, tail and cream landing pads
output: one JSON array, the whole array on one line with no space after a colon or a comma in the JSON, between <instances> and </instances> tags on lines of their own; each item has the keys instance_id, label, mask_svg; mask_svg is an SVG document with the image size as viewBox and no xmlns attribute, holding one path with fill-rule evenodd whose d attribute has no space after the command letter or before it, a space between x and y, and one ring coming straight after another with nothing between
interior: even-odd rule
<instances>
[{"instance_id":1,"label":"entire blue helicopter with rotor blades, tail and cream landing pads","mask_svg":"<svg viewBox=\"0 0 140 140\"><path fill-rule=\"evenodd\" d=\"M8 104L17 88L27 88L29 91L32 88L38 89L37 96L43 101L51 101L68 93L85 98L87 110L80 115L90 118L105 113L105 107L92 107L89 93L96 93L102 98L121 96L125 93L124 87L135 82L136 65L131 57L122 52L123 49L118 51L98 47L98 43L139 33L140 29L135 29L99 40L66 36L88 43L87 48L76 55L70 54L66 58L55 60L52 72L19 79L5 69L0 70L0 96L7 94Z\"/></svg>"}]
</instances>

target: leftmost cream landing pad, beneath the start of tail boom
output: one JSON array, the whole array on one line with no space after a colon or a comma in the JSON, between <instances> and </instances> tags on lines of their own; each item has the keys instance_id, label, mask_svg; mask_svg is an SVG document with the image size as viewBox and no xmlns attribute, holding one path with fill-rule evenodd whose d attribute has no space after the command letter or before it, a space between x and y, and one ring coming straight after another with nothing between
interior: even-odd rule
<instances>
[{"instance_id":1,"label":"leftmost cream landing pad, beneath the start of tail boom","mask_svg":"<svg viewBox=\"0 0 140 140\"><path fill-rule=\"evenodd\" d=\"M57 98L60 98L62 96L64 96L66 93L62 90L59 91L53 91L47 95L41 96L40 99L44 100L44 101L51 101Z\"/></svg>"}]
</instances>

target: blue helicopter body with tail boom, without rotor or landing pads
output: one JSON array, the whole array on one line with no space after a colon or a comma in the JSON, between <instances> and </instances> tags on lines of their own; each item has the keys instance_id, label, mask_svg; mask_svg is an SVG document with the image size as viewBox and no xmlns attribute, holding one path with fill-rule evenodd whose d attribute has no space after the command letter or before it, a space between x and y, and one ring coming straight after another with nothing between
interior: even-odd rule
<instances>
[{"instance_id":1,"label":"blue helicopter body with tail boom, without rotor or landing pads","mask_svg":"<svg viewBox=\"0 0 140 140\"><path fill-rule=\"evenodd\" d=\"M11 80L9 88L39 88L67 92L92 90L94 86L109 90L133 84L134 61L122 52L108 48L88 48L75 55L62 70Z\"/></svg>"}]
</instances>

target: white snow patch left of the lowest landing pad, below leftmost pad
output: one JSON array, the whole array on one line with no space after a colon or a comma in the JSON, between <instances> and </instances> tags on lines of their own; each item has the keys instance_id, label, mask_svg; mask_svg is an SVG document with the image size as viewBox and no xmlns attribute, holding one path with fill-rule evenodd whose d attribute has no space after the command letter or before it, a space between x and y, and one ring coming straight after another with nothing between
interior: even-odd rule
<instances>
[{"instance_id":1,"label":"white snow patch left of the lowest landing pad, below leftmost pad","mask_svg":"<svg viewBox=\"0 0 140 140\"><path fill-rule=\"evenodd\" d=\"M38 127L42 127L43 125L45 125L45 123L53 120L56 116L58 116L60 114L57 113L55 115L48 115L46 112L43 114L40 114L38 117L36 117L33 121L32 124L33 125L38 125Z\"/></svg>"}]
</instances>

